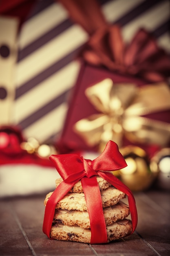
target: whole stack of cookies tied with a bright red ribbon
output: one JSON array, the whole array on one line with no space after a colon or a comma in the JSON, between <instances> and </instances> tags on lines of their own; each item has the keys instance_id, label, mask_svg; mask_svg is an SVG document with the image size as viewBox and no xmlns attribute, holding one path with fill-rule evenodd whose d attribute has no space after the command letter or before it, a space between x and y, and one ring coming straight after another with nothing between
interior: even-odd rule
<instances>
[{"instance_id":1,"label":"whole stack of cookies tied with a bright red ribbon","mask_svg":"<svg viewBox=\"0 0 170 256\"><path fill-rule=\"evenodd\" d=\"M60 173L63 181L57 186L53 193L47 195L48 200L46 200L43 223L44 234L51 239L97 244L108 243L108 241L130 235L135 231L137 226L135 198L130 189L110 173L110 171L115 171L126 166L124 157L120 154L115 142L108 141L103 153L93 161L84 159L84 157L80 157L76 154L51 155L50 159ZM97 183L98 176L109 182L113 190L118 189L117 191L120 193L123 192L128 196L132 229L126 233L122 231L122 233L119 233L119 237L117 237L116 229L119 230L119 224L120 226L126 227L129 220L124 219L124 221L120 221L119 224L113 221L111 225L106 226L104 209L107 208L108 205L104 205L106 200L102 199L103 191L101 192L101 188L99 189L99 184ZM75 193L73 195L73 193L69 192L73 191L74 185L79 181L81 181L83 189L83 193L79 193L80 198L83 194L81 200L78 195L75 196ZM106 191L108 191L108 189L106 189ZM109 193L106 192L106 194L108 195ZM92 195L95 195L95 198L92 197ZM76 202L76 197L78 197L78 202ZM78 224L75 227L72 226L72 222L67 225L62 225L61 219L57 221L56 225L52 225L53 219L57 218L55 217L55 208L59 208L59 212L65 214L67 211L64 211L63 207L69 205L68 210L71 211L71 215L73 216L75 214L73 213L75 211L72 211L73 205L76 206L76 211L84 211L84 209L81 208L84 197L87 207L86 210L88 211L90 219L90 229L80 228L79 222L81 222L81 220L77 220ZM62 202L62 200L64 201ZM112 205L116 203L117 202L113 202ZM57 205L59 205L59 207L57 207ZM116 228L114 229L115 226ZM59 229L58 234L55 231L56 228ZM112 231L113 229L114 231Z\"/></svg>"}]
</instances>

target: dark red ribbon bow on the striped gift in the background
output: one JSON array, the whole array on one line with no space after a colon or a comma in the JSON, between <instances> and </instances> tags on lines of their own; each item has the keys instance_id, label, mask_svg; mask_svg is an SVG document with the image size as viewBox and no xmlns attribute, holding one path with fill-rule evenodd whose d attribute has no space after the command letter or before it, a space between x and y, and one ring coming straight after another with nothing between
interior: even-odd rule
<instances>
[{"instance_id":1,"label":"dark red ribbon bow on the striped gift in the background","mask_svg":"<svg viewBox=\"0 0 170 256\"><path fill-rule=\"evenodd\" d=\"M168 79L170 57L158 47L151 33L139 29L130 44L125 44L121 28L108 24L96 0L58 1L68 10L71 19L90 36L79 54L86 62L148 82Z\"/></svg>"}]
</instances>

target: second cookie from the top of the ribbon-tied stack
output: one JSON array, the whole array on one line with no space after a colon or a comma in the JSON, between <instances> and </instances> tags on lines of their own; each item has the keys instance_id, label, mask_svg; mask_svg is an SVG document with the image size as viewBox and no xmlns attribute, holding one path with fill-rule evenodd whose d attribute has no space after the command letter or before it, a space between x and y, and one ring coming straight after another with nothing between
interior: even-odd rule
<instances>
[{"instance_id":1,"label":"second cookie from the top of the ribbon-tied stack","mask_svg":"<svg viewBox=\"0 0 170 256\"><path fill-rule=\"evenodd\" d=\"M44 200L44 205L46 205L46 202L50 198L51 194L53 192L50 192L46 195L46 198ZM100 192L101 198L102 198L102 207L108 207L112 206L114 204L117 204L119 200L126 197L126 194L120 191L119 189L116 189L113 186L108 187L108 189L105 189ZM62 200L60 200L56 204L56 209L62 209L62 210L78 210L78 211L87 211L86 206L86 200L84 193L70 193L68 192Z\"/></svg>"}]
</instances>

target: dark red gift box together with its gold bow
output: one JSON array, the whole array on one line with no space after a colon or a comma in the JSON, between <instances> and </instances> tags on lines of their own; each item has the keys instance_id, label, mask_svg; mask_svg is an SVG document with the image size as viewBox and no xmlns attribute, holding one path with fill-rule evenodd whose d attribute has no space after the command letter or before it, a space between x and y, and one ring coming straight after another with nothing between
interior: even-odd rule
<instances>
[{"instance_id":1,"label":"dark red gift box together with its gold bow","mask_svg":"<svg viewBox=\"0 0 170 256\"><path fill-rule=\"evenodd\" d=\"M159 146L168 144L168 141L170 139L170 126L169 126L169 99L170 99L170 92L168 85L166 83L155 83L154 85L149 84L144 79L136 78L135 76L125 76L116 74L114 72L110 72L104 68L94 67L92 65L83 64L82 69L79 73L79 77L77 79L77 83L75 85L74 92L72 94L72 98L70 101L70 107L68 110L68 114L66 117L64 130L62 132L61 138L58 141L58 146L61 150L61 152L69 152L71 150L99 150L99 144L101 142L101 136L102 133L104 133L104 124L109 123L109 121L105 121L102 123L102 120L98 118L110 115L112 112L115 115L115 110L110 109L110 113L107 112L105 109L109 101L113 98L113 96L109 98L107 92L107 85L102 85L102 89L97 86L99 86L99 83L101 81L104 81L104 79L111 79L111 83L113 81L113 88L115 87L115 90L121 89L121 92L114 92L115 96L118 96L118 99L121 99L121 101L127 101L128 106L127 110L124 109L124 112L121 113L121 116L119 118L124 119L119 121L118 119L115 119L114 123L112 124L112 127L114 124L120 124L121 126L127 126L127 130L123 128L123 133L115 133L115 141L118 141L119 146L126 146L128 144L134 144L134 145L140 145L144 146L144 148L147 149L146 145L155 145L158 144ZM98 85L97 85L98 83ZM96 86L96 92L91 95L91 99L93 101L93 97L96 97L98 101L94 104L90 100L90 97L87 97L87 94L85 94L86 90L89 88L95 88ZM121 88L122 87L122 88ZM119 89L116 89L119 88ZM135 89L135 92L134 92ZM99 90L101 90L101 95L98 96ZM103 90L103 91L102 91ZM140 91L141 90L141 91ZM163 90L163 92L162 92ZM164 92L165 90L165 92ZM141 94L144 93L144 96L142 97ZM156 93L154 95L154 92ZM126 94L126 97L125 95ZM147 95L146 95L147 94ZM104 100L102 102L102 97L104 98L104 95L106 96L106 104L104 103ZM108 96L108 98L107 98ZM101 97L101 98L100 98ZM137 101L134 101L134 99L137 99ZM150 98L151 97L151 98ZM124 99L125 98L125 99ZM147 99L148 98L148 99ZM160 101L158 102L160 98ZM153 99L153 100L151 100ZM157 99L157 106L155 107L155 99ZM148 103L146 102L148 100ZM99 102L100 101L100 102ZM101 103L102 102L102 103ZM131 104L131 103L132 104ZM166 103L165 103L166 102ZM124 103L124 102L123 102ZM102 108L100 108L100 105L103 104L103 111L101 111ZM138 106L139 105L139 106ZM144 106L143 106L144 105ZM97 108L97 106L99 106ZM142 107L144 110L141 110ZM131 108L131 110L130 110ZM121 109L120 109L121 110ZM128 112L132 111L131 115L127 115L125 117L126 111ZM136 113L134 113L134 111ZM138 112L138 113L137 113ZM141 117L141 113L143 112L143 117ZM153 139L151 139L151 134L149 133L149 128L146 132L148 132L148 136L146 136L144 139L141 139L140 136L135 136L133 134L133 128L132 130L129 130L129 124L132 124L133 119L135 119L135 124L138 122L138 119L141 117L141 120L144 121L144 126L152 128L152 131L154 130L154 126L157 125L157 123L160 126L160 130L156 130L155 133L159 135L160 141L157 141L155 138L155 135L153 136ZM143 119L142 119L143 118ZM159 120L159 121L158 121ZM75 127L75 125L79 124L79 121L82 121L81 128L80 126ZM84 121L84 122L83 122ZM124 124L123 124L124 122ZM135 124L133 126L135 127ZM167 126L165 126L167 124ZM139 130L137 132L140 132L140 126ZM77 129L77 130L76 130ZM156 128L155 128L156 129ZM109 131L109 128L108 128ZM141 128L142 131L142 128ZM98 133L98 136L97 136ZM113 133L113 130L112 130ZM121 137L120 137L121 136ZM165 137L164 137L165 136ZM133 138L135 137L135 139ZM112 138L112 137L111 137ZM105 144L106 145L106 144ZM104 146L105 146L104 145ZM103 147L104 147L103 146ZM103 150L103 147L101 150Z\"/></svg>"}]
</instances>

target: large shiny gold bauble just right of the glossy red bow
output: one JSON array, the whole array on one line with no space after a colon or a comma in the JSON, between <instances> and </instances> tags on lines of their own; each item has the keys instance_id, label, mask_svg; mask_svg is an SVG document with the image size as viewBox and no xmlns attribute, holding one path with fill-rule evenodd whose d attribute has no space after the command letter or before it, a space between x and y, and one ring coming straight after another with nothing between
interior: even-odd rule
<instances>
[{"instance_id":1,"label":"large shiny gold bauble just right of the glossy red bow","mask_svg":"<svg viewBox=\"0 0 170 256\"><path fill-rule=\"evenodd\" d=\"M121 148L120 152L128 166L119 170L117 177L132 191L148 189L158 172L150 169L150 161L146 152L137 146L126 146Z\"/></svg>"}]
</instances>

